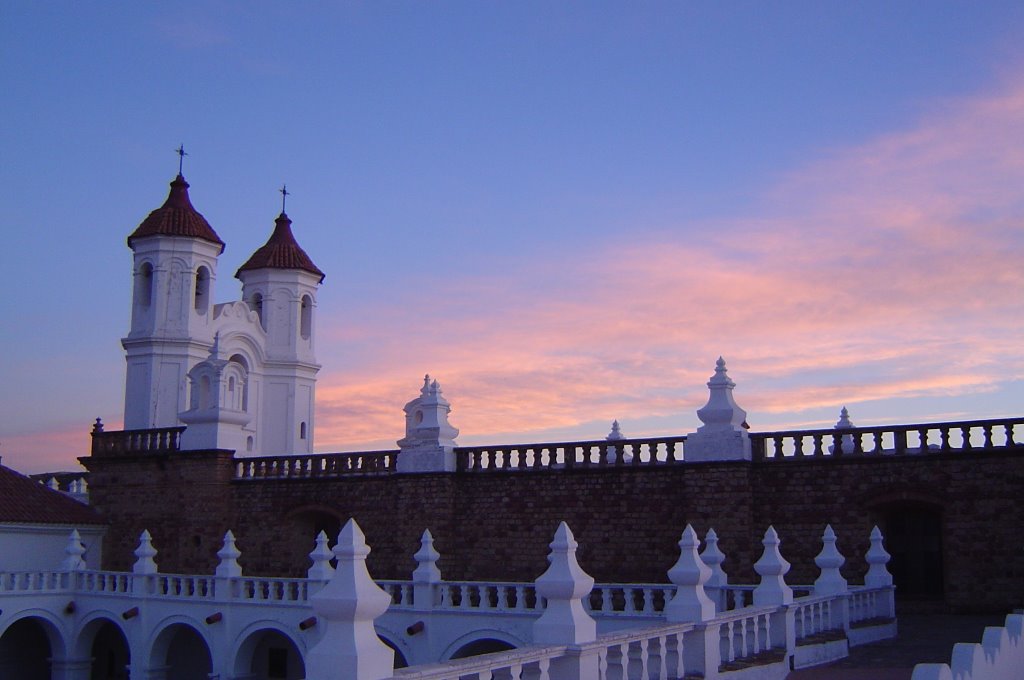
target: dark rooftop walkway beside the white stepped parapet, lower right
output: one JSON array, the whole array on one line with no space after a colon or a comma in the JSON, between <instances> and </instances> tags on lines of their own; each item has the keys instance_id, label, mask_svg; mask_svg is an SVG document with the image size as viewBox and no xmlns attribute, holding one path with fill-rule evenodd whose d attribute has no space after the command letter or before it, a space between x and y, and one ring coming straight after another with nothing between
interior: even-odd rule
<instances>
[{"instance_id":1,"label":"dark rooftop walkway beside the white stepped parapet, lower right","mask_svg":"<svg viewBox=\"0 0 1024 680\"><path fill-rule=\"evenodd\" d=\"M954 644L981 642L985 627L1002 626L1005 619L998 614L900 614L896 638L852 647L846 658L794 671L786 680L910 680L914 665L948 664Z\"/></svg>"}]
</instances>

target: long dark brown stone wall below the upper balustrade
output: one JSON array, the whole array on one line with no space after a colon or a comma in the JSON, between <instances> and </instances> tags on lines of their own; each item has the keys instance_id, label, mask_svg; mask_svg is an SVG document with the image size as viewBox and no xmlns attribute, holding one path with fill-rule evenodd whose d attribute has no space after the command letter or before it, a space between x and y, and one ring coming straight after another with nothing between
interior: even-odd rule
<instances>
[{"instance_id":1,"label":"long dark brown stone wall below the upper balustrade","mask_svg":"<svg viewBox=\"0 0 1024 680\"><path fill-rule=\"evenodd\" d=\"M247 573L299 576L315 528L354 517L377 578L410 578L429 528L445 579L532 581L565 520L599 583L667 582L686 523L701 537L713 526L730 582L753 583L761 538L774 524L794 565L787 582L811 584L830 523L847 558L843 575L860 583L871 526L885 532L916 508L941 522L947 608L1006 611L1024 604L1022 453L255 480L232 479L228 452L83 462L93 505L112 522L108 568L130 568L148 528L162 571L212 573L230 528Z\"/></svg>"}]
</instances>

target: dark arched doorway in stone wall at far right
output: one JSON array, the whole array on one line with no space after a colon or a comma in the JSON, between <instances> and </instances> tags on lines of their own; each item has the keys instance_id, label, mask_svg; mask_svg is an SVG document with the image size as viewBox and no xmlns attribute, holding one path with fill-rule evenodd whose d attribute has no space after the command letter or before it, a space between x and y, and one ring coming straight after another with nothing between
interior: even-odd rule
<instances>
[{"instance_id":1,"label":"dark arched doorway in stone wall at far right","mask_svg":"<svg viewBox=\"0 0 1024 680\"><path fill-rule=\"evenodd\" d=\"M942 508L892 503L883 509L889 571L900 600L941 600L945 594Z\"/></svg>"}]
</instances>

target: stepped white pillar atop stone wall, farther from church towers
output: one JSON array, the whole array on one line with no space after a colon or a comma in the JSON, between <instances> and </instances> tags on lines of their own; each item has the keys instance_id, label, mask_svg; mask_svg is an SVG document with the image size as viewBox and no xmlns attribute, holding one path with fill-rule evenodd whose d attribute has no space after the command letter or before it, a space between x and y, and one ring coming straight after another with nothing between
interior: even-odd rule
<instances>
[{"instance_id":1,"label":"stepped white pillar atop stone wall, farther from church towers","mask_svg":"<svg viewBox=\"0 0 1024 680\"><path fill-rule=\"evenodd\" d=\"M732 398L735 386L725 368L725 359L719 356L715 375L708 381L711 390L708 403L697 411L697 418L703 425L688 434L683 444L687 462L751 460L751 437L744 427L746 412Z\"/></svg>"}]
</instances>

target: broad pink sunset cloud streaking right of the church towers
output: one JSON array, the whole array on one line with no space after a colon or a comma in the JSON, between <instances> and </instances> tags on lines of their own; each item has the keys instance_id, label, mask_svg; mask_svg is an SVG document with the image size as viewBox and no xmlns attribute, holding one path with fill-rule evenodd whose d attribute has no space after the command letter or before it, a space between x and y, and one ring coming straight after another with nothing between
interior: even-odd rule
<instances>
[{"instance_id":1,"label":"broad pink sunset cloud streaking right of the church towers","mask_svg":"<svg viewBox=\"0 0 1024 680\"><path fill-rule=\"evenodd\" d=\"M674 414L685 429L720 353L752 414L1024 379L1021 138L1015 82L790 174L757 218L450 278L422 313L329 332L341 350L381 341L322 375L318 441L398 438L425 371L474 438Z\"/></svg>"}]
</instances>

